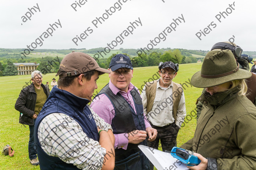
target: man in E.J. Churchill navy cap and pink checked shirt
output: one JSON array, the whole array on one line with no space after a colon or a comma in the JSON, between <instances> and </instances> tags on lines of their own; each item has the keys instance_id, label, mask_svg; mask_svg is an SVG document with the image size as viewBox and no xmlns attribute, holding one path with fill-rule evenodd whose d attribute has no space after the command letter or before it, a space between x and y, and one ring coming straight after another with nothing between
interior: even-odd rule
<instances>
[{"instance_id":1,"label":"man in E.J. Churchill navy cap and pink checked shirt","mask_svg":"<svg viewBox=\"0 0 256 170\"><path fill-rule=\"evenodd\" d=\"M133 66L130 58L117 54L110 62L109 83L91 103L91 108L108 124L115 136L115 169L149 169L149 161L138 148L154 141L157 130L143 114L143 105L137 87L133 86ZM148 137L147 137L148 135Z\"/></svg>"}]
</instances>

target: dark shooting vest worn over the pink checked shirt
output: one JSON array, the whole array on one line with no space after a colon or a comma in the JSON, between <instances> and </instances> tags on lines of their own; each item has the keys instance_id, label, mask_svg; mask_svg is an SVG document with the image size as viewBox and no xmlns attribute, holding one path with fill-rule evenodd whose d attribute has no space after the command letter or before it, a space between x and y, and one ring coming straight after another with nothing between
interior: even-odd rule
<instances>
[{"instance_id":1,"label":"dark shooting vest worn over the pink checked shirt","mask_svg":"<svg viewBox=\"0 0 256 170\"><path fill-rule=\"evenodd\" d=\"M105 94L111 101L115 110L115 117L112 119L111 123L113 134L130 133L134 130L146 131L143 105L140 94L135 87L133 88L133 90L130 91L130 93L133 97L137 114L134 112L131 105L125 100L125 98L121 94L113 94L112 90L109 88L109 84L103 87L99 94L94 97L96 98L100 94ZM146 140L140 142L139 144L147 146ZM129 143L126 150L124 150L123 148L116 148L115 162L121 161L128 156L140 151L140 149L138 148L139 144Z\"/></svg>"}]
</instances>

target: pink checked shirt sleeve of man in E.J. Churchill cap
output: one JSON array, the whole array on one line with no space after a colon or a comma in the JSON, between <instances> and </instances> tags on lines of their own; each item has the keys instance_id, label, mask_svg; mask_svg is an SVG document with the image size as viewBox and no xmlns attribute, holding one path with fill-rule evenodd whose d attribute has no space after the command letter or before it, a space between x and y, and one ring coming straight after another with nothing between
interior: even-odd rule
<instances>
[{"instance_id":1,"label":"pink checked shirt sleeve of man in E.J. Churchill cap","mask_svg":"<svg viewBox=\"0 0 256 170\"><path fill-rule=\"evenodd\" d=\"M111 101L108 99L108 97L105 94L101 94L94 98L94 100L91 103L91 109L99 115L106 123L111 124L112 119L115 116L115 110L111 103ZM114 134L115 136L115 144L114 149L116 148L123 148L127 149L128 146L128 134L122 133L122 134Z\"/></svg>"}]
</instances>

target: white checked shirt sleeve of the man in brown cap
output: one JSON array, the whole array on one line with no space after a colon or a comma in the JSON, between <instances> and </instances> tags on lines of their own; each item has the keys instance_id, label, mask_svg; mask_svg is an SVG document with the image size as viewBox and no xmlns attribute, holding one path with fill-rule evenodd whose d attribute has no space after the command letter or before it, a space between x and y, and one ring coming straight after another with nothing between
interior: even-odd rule
<instances>
[{"instance_id":1,"label":"white checked shirt sleeve of the man in brown cap","mask_svg":"<svg viewBox=\"0 0 256 170\"><path fill-rule=\"evenodd\" d=\"M68 115L54 113L46 116L39 124L37 135L47 155L59 157L83 170L102 168L106 149L89 138Z\"/></svg>"}]
</instances>

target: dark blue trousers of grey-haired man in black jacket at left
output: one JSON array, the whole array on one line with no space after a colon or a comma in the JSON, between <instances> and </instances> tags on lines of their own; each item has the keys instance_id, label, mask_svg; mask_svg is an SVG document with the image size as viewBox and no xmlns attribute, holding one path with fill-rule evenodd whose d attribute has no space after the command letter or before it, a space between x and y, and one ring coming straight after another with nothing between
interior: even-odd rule
<instances>
[{"instance_id":1,"label":"dark blue trousers of grey-haired man in black jacket at left","mask_svg":"<svg viewBox=\"0 0 256 170\"><path fill-rule=\"evenodd\" d=\"M29 159L37 158L37 151L34 140L34 129L35 129L36 119L34 119L34 125L29 125L29 141L28 141L28 156Z\"/></svg>"}]
</instances>

